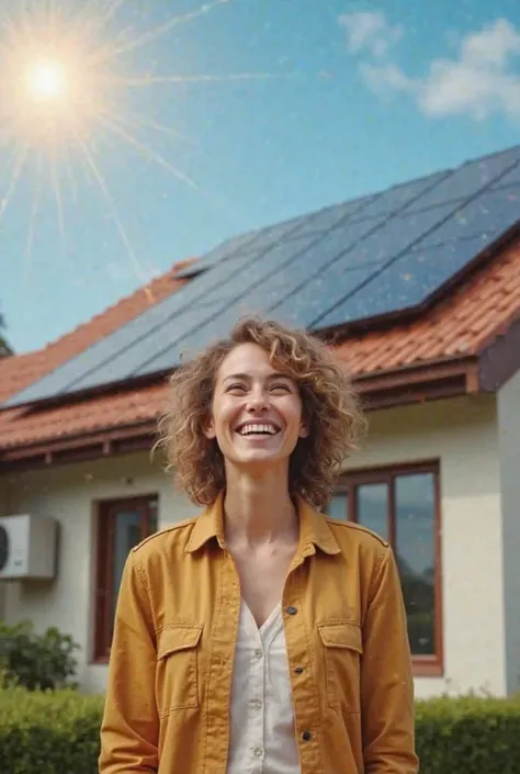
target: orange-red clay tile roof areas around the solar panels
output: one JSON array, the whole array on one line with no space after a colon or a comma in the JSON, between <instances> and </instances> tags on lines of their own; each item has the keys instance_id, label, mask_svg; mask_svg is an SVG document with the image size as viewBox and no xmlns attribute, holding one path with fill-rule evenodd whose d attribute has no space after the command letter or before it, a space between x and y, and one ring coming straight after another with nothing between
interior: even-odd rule
<instances>
[{"instance_id":1,"label":"orange-red clay tile roof areas around the solar panels","mask_svg":"<svg viewBox=\"0 0 520 774\"><path fill-rule=\"evenodd\" d=\"M149 288L156 301L174 292L180 281L166 274ZM90 323L39 352L2 362L3 399L123 325L152 303L138 291ZM506 249L418 319L387 330L372 330L342 341L338 351L354 377L478 354L520 318L520 244ZM10 368L8 379L4 368ZM131 427L154 422L165 405L166 386L136 388L42 411L0 412L0 449Z\"/></svg>"}]
</instances>

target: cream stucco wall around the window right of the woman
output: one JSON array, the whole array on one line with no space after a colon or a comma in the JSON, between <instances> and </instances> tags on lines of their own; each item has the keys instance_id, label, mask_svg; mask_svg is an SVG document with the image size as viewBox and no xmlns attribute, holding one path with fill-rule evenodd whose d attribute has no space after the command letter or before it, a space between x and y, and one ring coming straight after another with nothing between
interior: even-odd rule
<instances>
[{"instance_id":1,"label":"cream stucco wall around the window right of the woman","mask_svg":"<svg viewBox=\"0 0 520 774\"><path fill-rule=\"evenodd\" d=\"M444 676L417 678L419 697L506 691L495 406L477 396L381 412L350 464L441 463Z\"/></svg>"}]
</instances>

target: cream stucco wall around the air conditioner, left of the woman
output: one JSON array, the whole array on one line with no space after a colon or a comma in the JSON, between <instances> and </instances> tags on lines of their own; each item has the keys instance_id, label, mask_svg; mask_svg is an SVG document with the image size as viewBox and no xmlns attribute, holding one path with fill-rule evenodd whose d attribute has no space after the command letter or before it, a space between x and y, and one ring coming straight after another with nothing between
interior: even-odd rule
<instances>
[{"instance_id":1,"label":"cream stucco wall around the air conditioner, left of the woman","mask_svg":"<svg viewBox=\"0 0 520 774\"><path fill-rule=\"evenodd\" d=\"M98 500L157 494L159 526L196 513L173 492L149 455L49 468L11 476L5 513L53 516L60 523L59 574L52 583L14 583L7 590L5 618L31 618L37 629L57 626L81 646L79 680L87 691L102 691L106 666L92 664L95 524Z\"/></svg>"}]
</instances>

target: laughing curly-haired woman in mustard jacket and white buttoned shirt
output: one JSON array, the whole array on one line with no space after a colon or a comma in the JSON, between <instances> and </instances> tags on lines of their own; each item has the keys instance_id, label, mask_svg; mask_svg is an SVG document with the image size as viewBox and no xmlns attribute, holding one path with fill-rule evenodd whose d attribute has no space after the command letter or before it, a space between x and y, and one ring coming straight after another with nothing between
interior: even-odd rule
<instances>
[{"instance_id":1,"label":"laughing curly-haired woman in mustard jacket and white buttoned shirt","mask_svg":"<svg viewBox=\"0 0 520 774\"><path fill-rule=\"evenodd\" d=\"M392 549L318 511L363 424L344 369L246 318L171 394L162 442L206 508L126 561L100 773L416 774Z\"/></svg>"}]
</instances>

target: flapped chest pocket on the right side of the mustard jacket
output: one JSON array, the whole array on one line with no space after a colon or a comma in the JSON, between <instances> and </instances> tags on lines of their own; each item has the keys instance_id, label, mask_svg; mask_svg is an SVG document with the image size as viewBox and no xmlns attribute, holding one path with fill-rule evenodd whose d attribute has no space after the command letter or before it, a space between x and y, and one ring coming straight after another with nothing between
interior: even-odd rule
<instances>
[{"instance_id":1,"label":"flapped chest pocket on the right side of the mustard jacket","mask_svg":"<svg viewBox=\"0 0 520 774\"><path fill-rule=\"evenodd\" d=\"M318 625L325 651L327 699L335 709L359 713L361 657L363 640L361 628L351 621Z\"/></svg>"}]
</instances>

